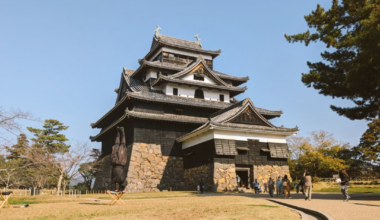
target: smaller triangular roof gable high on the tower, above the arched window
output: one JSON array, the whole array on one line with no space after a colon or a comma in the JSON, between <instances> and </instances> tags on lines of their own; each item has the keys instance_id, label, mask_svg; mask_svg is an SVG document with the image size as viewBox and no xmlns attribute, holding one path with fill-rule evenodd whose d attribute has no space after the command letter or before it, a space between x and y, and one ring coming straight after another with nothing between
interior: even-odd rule
<instances>
[{"instance_id":1,"label":"smaller triangular roof gable high on the tower, above the arched window","mask_svg":"<svg viewBox=\"0 0 380 220\"><path fill-rule=\"evenodd\" d=\"M199 56L197 61L191 64L186 69L182 70L179 73L171 75L169 77L173 79L183 79L184 77L190 74L192 75L194 73L201 73L201 72L203 72L203 74L211 78L217 85L230 86L226 82L224 82L221 78L219 78L217 75L214 74L214 72L207 66L202 56Z\"/></svg>"}]
</instances>

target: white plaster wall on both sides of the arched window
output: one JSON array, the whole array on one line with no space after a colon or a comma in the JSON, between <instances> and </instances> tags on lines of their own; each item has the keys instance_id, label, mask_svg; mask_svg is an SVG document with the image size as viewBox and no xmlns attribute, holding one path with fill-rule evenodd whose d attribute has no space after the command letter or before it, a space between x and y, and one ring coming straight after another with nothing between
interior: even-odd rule
<instances>
[{"instance_id":1,"label":"white plaster wall on both sides of the arched window","mask_svg":"<svg viewBox=\"0 0 380 220\"><path fill-rule=\"evenodd\" d=\"M178 95L187 98L194 98L196 87L178 86L171 83L166 84L162 90L166 95L173 95L173 88L178 88ZM230 94L224 91L202 89L206 100L219 101L219 95L224 95L224 102L230 102Z\"/></svg>"}]
</instances>

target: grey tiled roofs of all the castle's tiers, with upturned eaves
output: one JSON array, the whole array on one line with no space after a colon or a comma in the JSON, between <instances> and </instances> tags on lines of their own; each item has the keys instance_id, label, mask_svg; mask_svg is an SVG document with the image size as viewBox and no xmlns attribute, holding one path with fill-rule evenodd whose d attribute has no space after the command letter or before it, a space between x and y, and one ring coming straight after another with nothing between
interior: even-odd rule
<instances>
[{"instance_id":1,"label":"grey tiled roofs of all the castle's tiers, with upturned eaves","mask_svg":"<svg viewBox=\"0 0 380 220\"><path fill-rule=\"evenodd\" d=\"M186 51L196 53L197 56L187 58L185 62L164 62L161 60L154 60L157 54L163 53L164 48L175 49L176 51ZM272 111L259 107L255 107L249 99L238 102L234 96L243 93L247 88L238 87L242 83L249 80L249 77L237 77L221 73L212 69L212 60L221 53L220 50L204 50L199 42L191 42L172 37L157 34L153 38L150 51L145 55L144 59L139 60L140 67L134 71L131 69L123 68L121 73L120 86L115 91L118 93L115 106L109 110L103 117L95 123L92 123L93 128L102 128L102 131L95 137L91 137L92 141L97 140L101 135L106 133L111 128L115 127L126 118L135 118L143 120L158 120L158 121L171 121L177 123L199 124L200 130L210 127L218 126L228 127L230 129L254 129L267 132L292 132L294 129L286 129L275 127L269 119L280 117L282 111ZM208 59L206 60L205 57ZM210 65L211 63L211 65ZM156 70L157 73L161 71L169 71L170 74L157 74L156 78L152 80L145 80L144 74L150 70ZM186 80L184 77L201 71L202 76L208 77L213 83L206 83L197 80ZM227 82L228 81L228 82ZM166 84L174 84L178 86L187 86L189 88L209 89L210 91L224 91L230 94L229 100L207 100L193 97L183 97L179 95L168 95L162 90L162 86ZM135 102L149 102L154 104L166 104L174 106L194 107L200 109L215 110L217 113L206 117L195 117L180 114L166 114L166 113L148 113L135 110L128 110L127 103L131 100ZM239 111L250 106L255 115L263 122L260 125L245 125L239 123L226 123L226 120L231 115L239 114ZM118 119L112 119L115 112L124 112ZM232 117L231 116L231 117ZM188 135L192 135L198 130L195 130ZM178 140L182 140L181 137Z\"/></svg>"}]
</instances>

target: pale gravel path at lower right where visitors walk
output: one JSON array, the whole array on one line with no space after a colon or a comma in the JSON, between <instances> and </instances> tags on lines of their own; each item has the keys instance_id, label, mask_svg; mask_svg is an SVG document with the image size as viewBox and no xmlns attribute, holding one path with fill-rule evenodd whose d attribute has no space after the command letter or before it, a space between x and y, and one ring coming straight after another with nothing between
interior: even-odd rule
<instances>
[{"instance_id":1,"label":"pale gravel path at lower right where visitors walk","mask_svg":"<svg viewBox=\"0 0 380 220\"><path fill-rule=\"evenodd\" d=\"M379 201L379 194L351 194L349 202L343 202L343 196L339 193L314 193L312 201L305 201L302 194L293 194L292 199L269 197L265 194L254 195L258 198L271 198L291 205L300 206L329 214L335 220L378 220L380 219L380 207L371 205L358 205L366 201Z\"/></svg>"}]
</instances>

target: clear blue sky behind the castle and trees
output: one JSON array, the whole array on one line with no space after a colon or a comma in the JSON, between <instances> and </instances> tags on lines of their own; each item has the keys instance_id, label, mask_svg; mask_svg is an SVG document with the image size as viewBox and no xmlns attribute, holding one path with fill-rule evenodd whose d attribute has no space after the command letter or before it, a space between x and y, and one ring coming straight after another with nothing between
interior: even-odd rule
<instances>
[{"instance_id":1,"label":"clear blue sky behind the castle and trees","mask_svg":"<svg viewBox=\"0 0 380 220\"><path fill-rule=\"evenodd\" d=\"M90 123L115 104L122 68L138 68L160 25L163 35L195 40L199 34L205 49L221 49L214 69L248 75L248 90L237 98L282 109L275 125L297 125L299 136L326 130L355 145L367 122L338 116L329 107L351 103L301 82L306 61L321 60L325 46L289 44L284 38L307 29L303 16L317 3L331 2L0 0L0 106L58 119L70 126L65 132L70 140L89 141L99 132Z\"/></svg>"}]
</instances>

